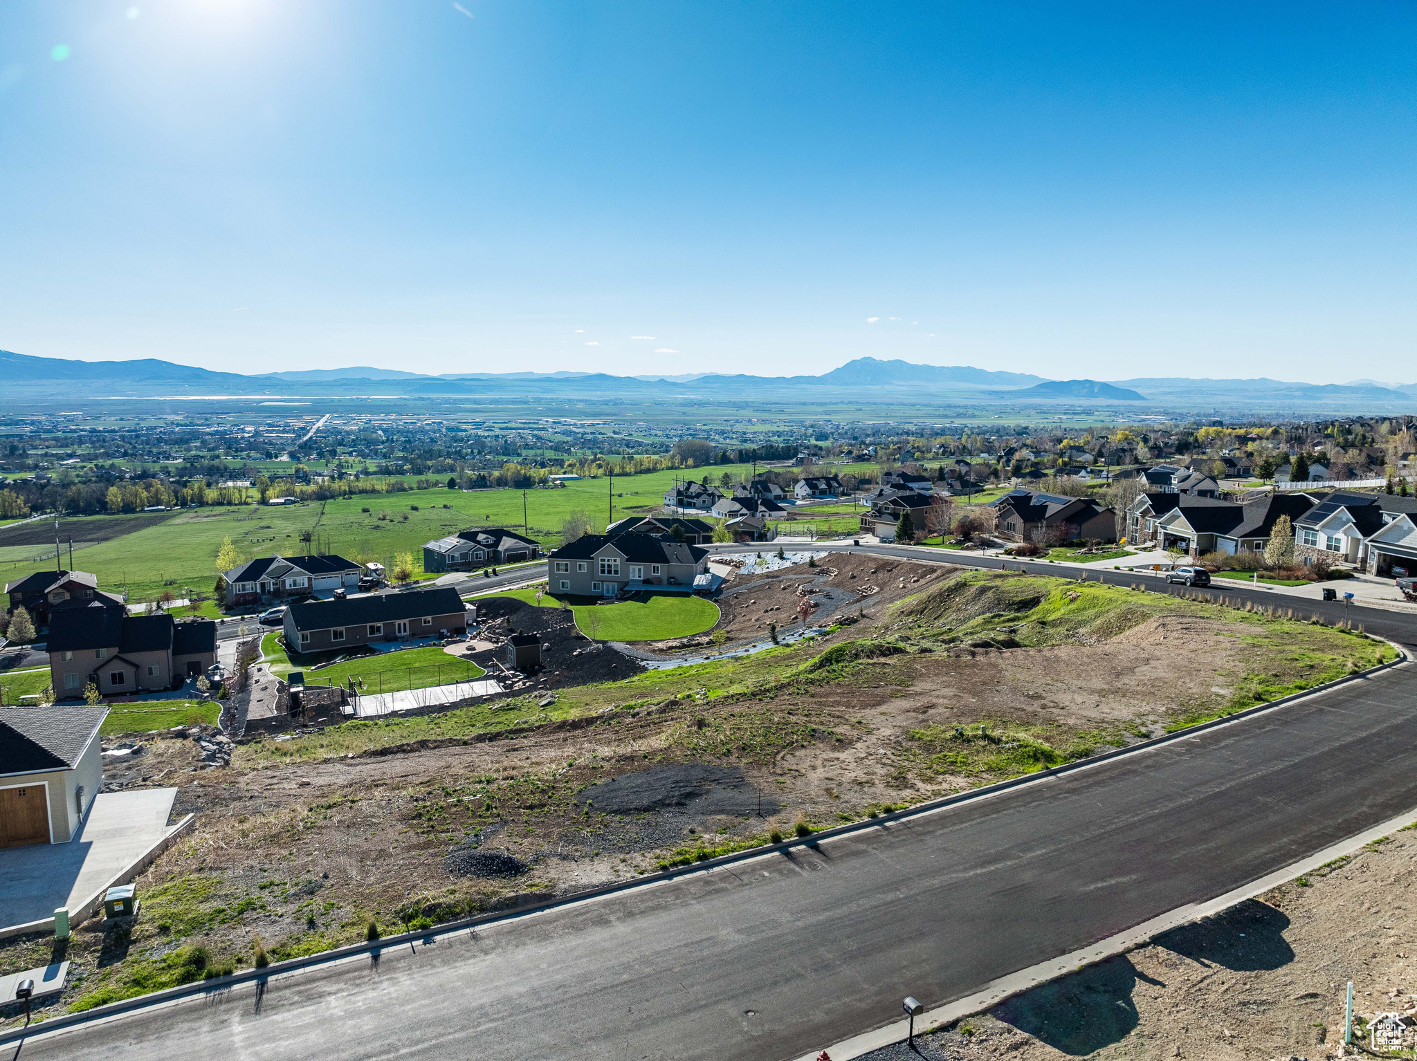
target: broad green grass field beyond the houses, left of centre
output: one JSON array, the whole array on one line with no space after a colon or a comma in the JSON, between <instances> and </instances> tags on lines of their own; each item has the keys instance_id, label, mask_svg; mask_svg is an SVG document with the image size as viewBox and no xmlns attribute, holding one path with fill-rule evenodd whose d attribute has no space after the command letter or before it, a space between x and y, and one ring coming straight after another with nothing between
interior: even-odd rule
<instances>
[{"instance_id":1,"label":"broad green grass field beyond the houses, left of centre","mask_svg":"<svg viewBox=\"0 0 1417 1061\"><path fill-rule=\"evenodd\" d=\"M751 467L716 465L697 477L710 473L717 482L724 472L737 477L751 472ZM683 479L683 475L650 472L616 479L614 499L609 497L608 479L582 479L558 490L527 490L524 500L531 537L554 548L561 540L561 521L574 510L585 511L594 530L604 530L612 500L616 520L649 511L663 504L665 492L673 486L676 476ZM380 520L381 513L387 518ZM359 562L380 561L393 569L397 552L412 552L418 567L425 541L463 527L520 530L521 513L521 490L463 493L448 489L366 494L286 507L188 509L157 526L91 545L82 554L77 552L74 561L81 571L98 575L101 589L118 591L126 585L129 599L152 601L163 589L171 589L179 596L186 595L183 591L187 586L210 592L217 579L217 550L225 537L249 560L272 552L300 555L307 548L300 541L300 533L315 531L329 538L333 552ZM123 518L137 520L142 514ZM82 524L82 520L65 520L61 534L79 540ZM0 579L13 581L47 568L48 562L30 560L40 551L41 545L0 548Z\"/></svg>"}]
</instances>

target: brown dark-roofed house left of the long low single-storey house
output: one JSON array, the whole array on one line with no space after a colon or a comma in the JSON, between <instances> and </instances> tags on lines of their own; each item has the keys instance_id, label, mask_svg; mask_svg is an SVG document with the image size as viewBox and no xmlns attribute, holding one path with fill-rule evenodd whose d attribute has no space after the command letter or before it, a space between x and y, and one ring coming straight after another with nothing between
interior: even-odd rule
<instances>
[{"instance_id":1,"label":"brown dark-roofed house left of the long low single-storey house","mask_svg":"<svg viewBox=\"0 0 1417 1061\"><path fill-rule=\"evenodd\" d=\"M159 693L200 677L217 662L217 623L129 615L116 596L67 601L50 616L50 683L57 700L94 684L105 697Z\"/></svg>"}]
</instances>

